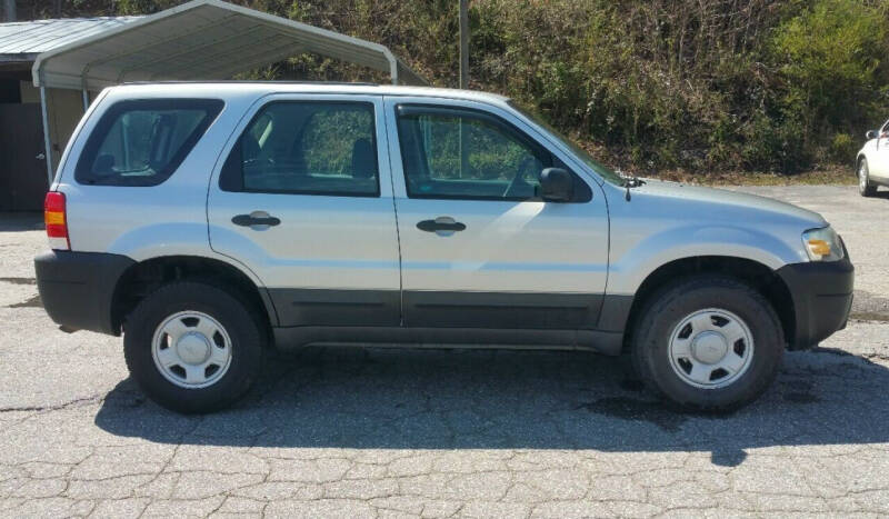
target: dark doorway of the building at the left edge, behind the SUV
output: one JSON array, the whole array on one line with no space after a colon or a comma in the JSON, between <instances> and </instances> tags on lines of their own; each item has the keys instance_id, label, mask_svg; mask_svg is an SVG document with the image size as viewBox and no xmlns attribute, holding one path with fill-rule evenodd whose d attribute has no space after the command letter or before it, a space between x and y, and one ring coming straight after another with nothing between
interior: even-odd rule
<instances>
[{"instance_id":1,"label":"dark doorway of the building at the left edge, behind the SUV","mask_svg":"<svg viewBox=\"0 0 889 519\"><path fill-rule=\"evenodd\" d=\"M0 104L0 211L41 211L49 188L40 104Z\"/></svg>"}]
</instances>

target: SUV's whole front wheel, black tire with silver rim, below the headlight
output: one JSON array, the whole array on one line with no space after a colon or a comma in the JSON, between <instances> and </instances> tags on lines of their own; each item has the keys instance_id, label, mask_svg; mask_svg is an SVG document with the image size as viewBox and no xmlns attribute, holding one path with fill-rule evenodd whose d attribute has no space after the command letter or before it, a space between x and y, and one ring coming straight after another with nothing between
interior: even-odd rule
<instances>
[{"instance_id":1,"label":"SUV's whole front wheel, black tire with silver rim, below the headlight","mask_svg":"<svg viewBox=\"0 0 889 519\"><path fill-rule=\"evenodd\" d=\"M700 276L658 291L633 332L633 368L680 407L728 411L775 379L785 338L771 305L732 278Z\"/></svg>"}]
</instances>

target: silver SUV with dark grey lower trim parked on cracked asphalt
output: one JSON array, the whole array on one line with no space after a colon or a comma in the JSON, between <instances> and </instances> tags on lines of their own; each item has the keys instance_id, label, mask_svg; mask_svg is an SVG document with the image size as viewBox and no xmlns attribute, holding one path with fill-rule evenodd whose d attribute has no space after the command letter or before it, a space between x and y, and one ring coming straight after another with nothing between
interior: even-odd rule
<instances>
[{"instance_id":1,"label":"silver SUV with dark grey lower trim parked on cracked asphalt","mask_svg":"<svg viewBox=\"0 0 889 519\"><path fill-rule=\"evenodd\" d=\"M513 101L363 84L104 90L46 200L47 312L123 333L132 377L206 412L271 347L628 353L672 402L732 409L846 325L821 216L618 176Z\"/></svg>"}]
</instances>

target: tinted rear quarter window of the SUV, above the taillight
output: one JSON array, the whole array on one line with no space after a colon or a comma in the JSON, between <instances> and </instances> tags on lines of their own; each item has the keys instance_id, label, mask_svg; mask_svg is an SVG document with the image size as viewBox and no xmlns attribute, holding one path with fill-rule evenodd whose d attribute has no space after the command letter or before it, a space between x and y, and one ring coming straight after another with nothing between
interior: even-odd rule
<instances>
[{"instance_id":1,"label":"tinted rear quarter window of the SUV, above the taillight","mask_svg":"<svg viewBox=\"0 0 889 519\"><path fill-rule=\"evenodd\" d=\"M157 186L182 163L222 106L217 99L114 103L87 139L74 178L94 186Z\"/></svg>"}]
</instances>

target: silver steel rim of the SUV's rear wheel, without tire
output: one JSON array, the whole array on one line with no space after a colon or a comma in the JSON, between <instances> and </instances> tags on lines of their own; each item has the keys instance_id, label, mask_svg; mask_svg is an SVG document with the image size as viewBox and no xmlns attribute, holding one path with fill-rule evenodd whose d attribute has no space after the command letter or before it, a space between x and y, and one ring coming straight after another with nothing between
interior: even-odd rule
<instances>
[{"instance_id":1,"label":"silver steel rim of the SUV's rear wheel, without tire","mask_svg":"<svg viewBox=\"0 0 889 519\"><path fill-rule=\"evenodd\" d=\"M154 330L151 356L158 371L180 388L206 388L231 365L231 339L212 317L184 311L168 317Z\"/></svg>"}]
</instances>

